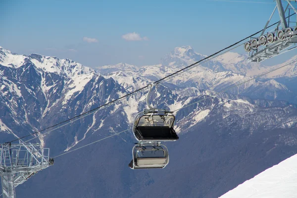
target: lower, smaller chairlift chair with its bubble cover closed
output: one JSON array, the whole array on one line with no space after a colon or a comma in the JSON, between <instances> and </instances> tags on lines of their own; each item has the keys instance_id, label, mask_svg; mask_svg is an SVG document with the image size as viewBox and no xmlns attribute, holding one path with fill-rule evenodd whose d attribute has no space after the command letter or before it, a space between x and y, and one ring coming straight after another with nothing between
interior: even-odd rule
<instances>
[{"instance_id":1,"label":"lower, smaller chairlift chair with its bubble cover closed","mask_svg":"<svg viewBox=\"0 0 297 198\"><path fill-rule=\"evenodd\" d=\"M160 143L136 144L132 156L131 169L165 168L169 163L168 149Z\"/></svg>"}]
</instances>

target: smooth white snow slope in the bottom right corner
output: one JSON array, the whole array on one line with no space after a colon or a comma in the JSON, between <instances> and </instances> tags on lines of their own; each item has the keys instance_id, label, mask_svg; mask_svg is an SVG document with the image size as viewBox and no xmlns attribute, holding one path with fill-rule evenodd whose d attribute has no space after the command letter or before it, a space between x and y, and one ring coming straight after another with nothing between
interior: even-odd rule
<instances>
[{"instance_id":1,"label":"smooth white snow slope in the bottom right corner","mask_svg":"<svg viewBox=\"0 0 297 198\"><path fill-rule=\"evenodd\" d=\"M297 154L268 168L220 198L297 198Z\"/></svg>"}]
</instances>

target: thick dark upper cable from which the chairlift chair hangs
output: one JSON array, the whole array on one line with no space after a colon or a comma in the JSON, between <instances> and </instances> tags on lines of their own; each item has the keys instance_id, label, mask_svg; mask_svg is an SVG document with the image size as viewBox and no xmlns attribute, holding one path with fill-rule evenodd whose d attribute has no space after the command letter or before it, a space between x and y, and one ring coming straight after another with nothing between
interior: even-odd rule
<instances>
[{"instance_id":1,"label":"thick dark upper cable from which the chairlift chair hangs","mask_svg":"<svg viewBox=\"0 0 297 198\"><path fill-rule=\"evenodd\" d=\"M295 15L295 14L296 14L296 13L293 13L293 14L289 15L288 17L293 16L293 15ZM288 17L286 17L286 18L288 18ZM268 27L266 27L266 28L272 27L273 25L276 25L276 24L278 24L278 23L279 23L279 22L276 22L276 23L274 23L274 24L272 24L272 25L270 25L270 26L268 26ZM213 53L213 54L211 54L211 55L209 55L209 56L207 56L207 57L205 57L205 58L203 58L203 59L201 59L201 60L199 60L199 61L197 61L197 62L195 62L195 63L193 63L193 64L191 64L191 65L189 65L189 66L187 66L187 67L185 67L185 68L183 68L183 69L180 69L180 70L178 70L178 71L176 71L176 72L174 72L174 73L172 73L172 74L170 74L170 75L168 75L168 76L165 76L164 78L155 81L153 84L155 84L155 85L156 85L156 84L159 84L159 83L161 83L162 81L165 81L165 80L167 80L167 79L170 79L170 78L172 78L173 76L178 75L179 73L181 73L181 72L183 72L183 71L185 71L185 70L188 70L188 69L190 69L190 68L193 68L194 66L197 66L198 63L200 63L200 62L202 62L202 61L207 61L208 59L210 59L211 57L213 57L213 56L219 54L220 52L222 52L222 51L224 51L224 50L226 50L226 49L230 49L230 48L232 48L232 47L238 45L239 43L245 41L246 39L248 39L248 38L250 38L250 37L252 37L252 36L254 36L254 35L256 35L256 34L258 34L258 33L260 33L260 32L262 32L263 30L264 30L264 29L262 29L262 30L260 30L260 31L258 31L258 32L256 32L256 33L254 33L254 34L252 34L252 35L250 35L250 36L248 36L248 37L246 37L246 38L244 38L244 39L242 39L242 40L240 40L240 41L238 41L238 42L236 42L236 43L230 45L229 47L226 47L226 48L224 48L224 49L221 49L221 50L219 50L219 51L217 51L217 52L215 52L215 53ZM63 121L63 122L57 123L57 124L55 124L55 125L52 125L52 126L50 126L50 127L47 127L47 128L45 128L45 129L42 129L42 130L40 130L40 131L34 132L34 133L32 133L32 134L23 136L23 137L21 137L21 138L17 138L17 139L12 140L12 141L10 141L10 142L8 142L8 143L12 143L12 142L21 140L21 139L23 139L23 138L26 138L26 137L29 137L29 136L32 136L32 135L41 133L41 132L43 132L43 131L45 131L45 130L47 130L47 129L56 127L56 126L58 126L58 125L60 125L60 124L63 124L63 123L64 123L63 126L65 126L65 125L71 123L70 121L77 121L77 120L81 119L82 116L85 117L85 116L87 116L87 115L93 114L93 113L97 112L98 110L100 110L102 107L108 106L108 105L110 105L111 103L114 103L114 102L119 101L119 100L121 100L121 99L125 99L125 98L127 98L127 97L129 97L129 96L132 96L132 95L134 95L134 94L136 94L136 93L138 93L138 92L140 92L140 91L143 91L143 90L147 89L148 87L149 87L149 85L147 85L147 86L145 86L145 87L143 87L143 88L140 88L140 89L138 89L138 90L136 90L136 91L133 91L133 92L131 92L131 93L125 95L125 96L122 96L122 97L118 98L118 99L114 99L114 100L112 100L112 101L110 101L110 102L107 102L107 103L105 103L105 104L103 104L103 105L101 105L101 106L99 106L99 107L96 107L96 108L94 108L94 109L92 109L92 110L89 110L89 111L87 111L87 112L84 112L84 113L82 113L82 114L80 114L80 115L77 115L77 116L75 116L75 117L72 117L72 118L70 118L70 119L67 119L67 120L65 120L65 121ZM59 127L57 127L57 128L59 128ZM54 128L53 130L55 130L55 129L57 129L57 128ZM53 131L53 130L51 130L51 131ZM41 135L39 135L39 136L41 136ZM37 137L39 137L39 136L36 136L36 137L34 137L33 139L35 139L35 138L37 138ZM32 140L32 139L31 139L31 140ZM26 141L26 142L27 142L27 141Z\"/></svg>"}]
</instances>

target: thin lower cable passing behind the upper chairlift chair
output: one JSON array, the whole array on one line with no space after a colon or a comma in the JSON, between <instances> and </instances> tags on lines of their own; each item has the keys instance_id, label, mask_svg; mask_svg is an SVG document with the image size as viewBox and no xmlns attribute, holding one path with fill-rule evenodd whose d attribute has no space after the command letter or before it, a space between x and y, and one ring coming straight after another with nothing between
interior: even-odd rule
<instances>
[{"instance_id":1,"label":"thin lower cable passing behind the upper chairlift chair","mask_svg":"<svg viewBox=\"0 0 297 198\"><path fill-rule=\"evenodd\" d=\"M271 72L274 72L274 71L276 71L276 70L278 70L278 69L281 69L281 68L283 68L283 67L285 67L285 66L288 66L288 65L290 65L290 64L292 64L292 66L293 66L294 63L297 63L297 60L292 61L292 62L290 62L290 63L288 63L288 64L286 64L286 65L277 67L277 68L275 68L275 69L272 69L272 70L270 70L270 71L264 72L263 74L260 74L260 75L258 75L258 76L256 76L256 77L251 78L251 79L249 79L249 80L247 80L247 81L244 81L244 82L242 82L242 83L240 83L240 84L232 84L232 85L228 86L228 88L226 88L225 90L222 90L221 92L218 92L218 94L221 94L221 93L223 93L223 92L226 92L226 91L228 91L228 90L230 90L230 89L232 89L232 88L234 88L234 87L240 86L240 85L245 84L245 83L247 83L247 82L249 82L249 81L252 81L252 80L255 80L255 79L257 79L257 78L260 78L260 77L262 77L262 76L264 76L264 75L266 75L266 74L269 74L269 73L271 73ZM238 81L238 82L239 82L239 81ZM214 95L214 96L216 96L216 95ZM189 107L189 106L191 106L191 105L193 105L193 104L196 104L196 103L198 103L198 102L200 102L200 101L209 99L209 98L211 98L211 97L213 97L213 96L210 96L210 97L206 97L206 98L200 99L200 100L198 100L198 101L196 101L196 102L192 102L192 103L190 103L190 104L187 104L186 106L183 106L183 107L181 107L181 108L178 108L178 109L173 110L173 112L179 111L179 110L181 110L181 109L183 109L183 108ZM286 123L287 123L287 122L286 122ZM56 157L59 157L59 156L68 154L68 153L70 153L70 152L73 152L73 151L75 151L75 150L78 150L78 149L87 147L87 146L89 146L89 145L98 143L98 142L100 142L100 141L102 141L102 140L105 140L105 139L107 139L107 138L111 138L111 137L113 137L113 136L116 136L116 135L122 134L122 133L124 133L124 132L130 131L131 129L133 129L133 128L129 128L129 129L126 129L126 130L124 130L124 131L115 133L115 134L113 134L113 135L110 135L110 136L107 136L107 137L105 137L105 138L99 139L99 140L97 140L97 141L94 141L94 142L92 142L92 143L90 143L90 144L81 146L81 147L79 147L79 148L75 148L75 149L73 149L73 150L66 151L66 152L64 152L64 153L61 153L61 154L59 154L59 155L54 156L53 158L56 158Z\"/></svg>"}]
</instances>

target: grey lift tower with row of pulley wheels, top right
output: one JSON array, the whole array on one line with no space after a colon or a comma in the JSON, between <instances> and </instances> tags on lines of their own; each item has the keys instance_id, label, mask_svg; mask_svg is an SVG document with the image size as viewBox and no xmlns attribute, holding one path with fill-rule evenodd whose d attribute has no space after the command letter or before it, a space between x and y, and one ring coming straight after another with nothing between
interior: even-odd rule
<instances>
[{"instance_id":1,"label":"grey lift tower with row of pulley wheels, top right","mask_svg":"<svg viewBox=\"0 0 297 198\"><path fill-rule=\"evenodd\" d=\"M276 6L261 32L260 37L250 38L244 45L245 50L248 51L249 61L261 62L297 48L295 46L297 44L297 10L291 3L292 1L296 2L296 0L285 0L288 2L286 9L283 7L282 0L275 1ZM279 13L280 22L276 25L274 30L264 34L276 9ZM296 16L293 17L294 12ZM287 17L286 13L288 13ZM292 21L294 20L292 18L295 18L295 21Z\"/></svg>"}]
</instances>

